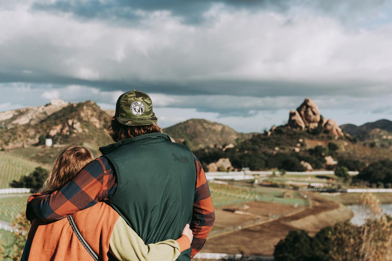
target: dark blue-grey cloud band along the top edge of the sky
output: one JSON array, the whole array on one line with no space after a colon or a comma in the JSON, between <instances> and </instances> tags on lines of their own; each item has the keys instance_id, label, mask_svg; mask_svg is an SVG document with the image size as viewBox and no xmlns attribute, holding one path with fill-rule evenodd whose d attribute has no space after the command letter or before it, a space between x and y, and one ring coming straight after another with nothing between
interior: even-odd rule
<instances>
[{"instance_id":1,"label":"dark blue-grey cloud band along the top edge of the sky","mask_svg":"<svg viewBox=\"0 0 392 261\"><path fill-rule=\"evenodd\" d=\"M273 8L285 10L290 6L284 0L149 0L149 1L77 1L58 0L55 2L37 1L32 5L33 11L54 13L71 13L82 19L107 19L112 21L135 22L145 18L146 13L168 11L173 16L181 18L185 23L201 23L205 20L203 14L213 5L224 4L229 8L260 9ZM140 12L142 11L142 12Z\"/></svg>"}]
</instances>

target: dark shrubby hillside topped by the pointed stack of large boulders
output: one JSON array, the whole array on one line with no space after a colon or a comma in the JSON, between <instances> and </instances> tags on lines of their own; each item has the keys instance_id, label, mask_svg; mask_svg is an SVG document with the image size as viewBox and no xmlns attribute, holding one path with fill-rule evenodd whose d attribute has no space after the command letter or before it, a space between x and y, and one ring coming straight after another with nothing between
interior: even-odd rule
<instances>
[{"instance_id":1,"label":"dark shrubby hillside topped by the pointed stack of large boulders","mask_svg":"<svg viewBox=\"0 0 392 261\"><path fill-rule=\"evenodd\" d=\"M373 131L376 130L379 129ZM336 121L324 119L310 99L305 99L297 110L290 111L285 125L255 133L233 148L203 148L194 153L209 171L243 167L251 170L332 170L336 161L345 162L347 166L347 162L366 165L392 157L392 151L386 147L367 146L345 134ZM358 169L348 168L352 171Z\"/></svg>"}]
</instances>

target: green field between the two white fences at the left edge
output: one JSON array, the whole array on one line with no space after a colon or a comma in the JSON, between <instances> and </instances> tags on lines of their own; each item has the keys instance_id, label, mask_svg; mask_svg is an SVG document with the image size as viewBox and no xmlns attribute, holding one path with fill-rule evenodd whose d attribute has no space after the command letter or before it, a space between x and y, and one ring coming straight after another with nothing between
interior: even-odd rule
<instances>
[{"instance_id":1,"label":"green field between the two white fences at the left edge","mask_svg":"<svg viewBox=\"0 0 392 261\"><path fill-rule=\"evenodd\" d=\"M13 221L17 214L26 208L28 196L0 198L0 220Z\"/></svg>"}]
</instances>

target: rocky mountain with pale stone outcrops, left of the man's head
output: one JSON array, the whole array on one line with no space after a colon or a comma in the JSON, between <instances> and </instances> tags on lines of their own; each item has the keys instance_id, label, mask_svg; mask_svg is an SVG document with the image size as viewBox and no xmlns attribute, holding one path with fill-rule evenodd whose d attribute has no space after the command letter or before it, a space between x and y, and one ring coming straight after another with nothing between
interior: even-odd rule
<instances>
[{"instance_id":1,"label":"rocky mountain with pale stone outcrops, left of the man's head","mask_svg":"<svg viewBox=\"0 0 392 261\"><path fill-rule=\"evenodd\" d=\"M61 101L3 112L1 115L0 148L32 146L40 135L53 139L54 144L109 144L113 142L105 128L109 115L93 101L68 104Z\"/></svg>"}]
</instances>

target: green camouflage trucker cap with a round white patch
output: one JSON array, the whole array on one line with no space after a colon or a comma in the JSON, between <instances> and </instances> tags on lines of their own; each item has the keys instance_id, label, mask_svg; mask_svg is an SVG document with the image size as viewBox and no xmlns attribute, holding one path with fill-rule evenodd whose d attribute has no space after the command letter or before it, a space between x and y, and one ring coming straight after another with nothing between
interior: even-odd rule
<instances>
[{"instance_id":1,"label":"green camouflage trucker cap with a round white patch","mask_svg":"<svg viewBox=\"0 0 392 261\"><path fill-rule=\"evenodd\" d=\"M150 96L138 90L118 97L115 116L118 122L129 126L152 125L158 121L152 112Z\"/></svg>"}]
</instances>

